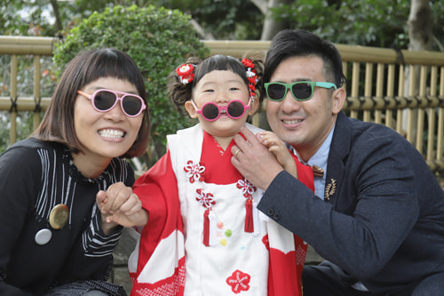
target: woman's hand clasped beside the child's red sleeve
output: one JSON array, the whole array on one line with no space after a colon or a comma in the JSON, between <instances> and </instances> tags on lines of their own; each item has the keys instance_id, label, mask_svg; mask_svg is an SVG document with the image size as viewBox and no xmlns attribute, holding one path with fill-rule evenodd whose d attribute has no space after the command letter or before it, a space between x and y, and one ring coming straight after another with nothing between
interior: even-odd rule
<instances>
[{"instance_id":1,"label":"woman's hand clasped beside the child's red sleeve","mask_svg":"<svg viewBox=\"0 0 444 296\"><path fill-rule=\"evenodd\" d=\"M142 208L142 202L123 182L111 185L107 191L100 190L96 202L105 234L110 233L117 225L130 228L147 224L148 213Z\"/></svg>"}]
</instances>

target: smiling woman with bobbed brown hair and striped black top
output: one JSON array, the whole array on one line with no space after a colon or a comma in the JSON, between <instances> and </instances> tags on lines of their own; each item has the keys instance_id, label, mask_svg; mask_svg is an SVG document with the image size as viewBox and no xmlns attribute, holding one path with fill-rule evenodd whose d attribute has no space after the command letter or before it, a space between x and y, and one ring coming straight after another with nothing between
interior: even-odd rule
<instances>
[{"instance_id":1,"label":"smiling woman with bobbed brown hair and striped black top","mask_svg":"<svg viewBox=\"0 0 444 296\"><path fill-rule=\"evenodd\" d=\"M147 148L143 77L126 53L83 52L44 119L0 156L0 295L126 295L107 283L124 227L147 223L123 157Z\"/></svg>"}]
</instances>

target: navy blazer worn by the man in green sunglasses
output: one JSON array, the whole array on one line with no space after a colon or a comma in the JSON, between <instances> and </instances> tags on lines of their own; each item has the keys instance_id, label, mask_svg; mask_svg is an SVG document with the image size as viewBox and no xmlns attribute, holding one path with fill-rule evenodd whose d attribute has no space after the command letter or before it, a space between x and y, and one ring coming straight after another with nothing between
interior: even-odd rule
<instances>
[{"instance_id":1,"label":"navy blazer worn by the man in green sunglasses","mask_svg":"<svg viewBox=\"0 0 444 296\"><path fill-rule=\"evenodd\" d=\"M444 271L444 191L398 132L341 112L326 178L322 200L281 172L258 209L370 292Z\"/></svg>"}]
</instances>

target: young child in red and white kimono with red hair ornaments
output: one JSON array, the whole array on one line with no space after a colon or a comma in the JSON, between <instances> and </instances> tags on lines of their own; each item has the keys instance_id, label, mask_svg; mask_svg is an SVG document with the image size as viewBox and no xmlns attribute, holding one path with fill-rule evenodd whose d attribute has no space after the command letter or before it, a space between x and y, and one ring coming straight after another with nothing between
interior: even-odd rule
<instances>
[{"instance_id":1,"label":"young child in red and white kimono with red hair ornaments","mask_svg":"<svg viewBox=\"0 0 444 296\"><path fill-rule=\"evenodd\" d=\"M133 187L149 220L129 261L132 295L300 295L305 244L258 212L263 192L231 163L234 135L262 132L246 124L260 106L260 67L215 55L170 76L171 100L199 124L168 136L165 156ZM264 133L272 150L276 139ZM296 164L313 188L310 169Z\"/></svg>"}]
</instances>

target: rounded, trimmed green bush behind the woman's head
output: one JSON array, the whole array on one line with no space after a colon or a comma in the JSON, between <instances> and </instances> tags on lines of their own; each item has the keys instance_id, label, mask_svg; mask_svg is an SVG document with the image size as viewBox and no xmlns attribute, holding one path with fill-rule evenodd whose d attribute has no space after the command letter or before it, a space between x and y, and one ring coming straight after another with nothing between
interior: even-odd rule
<instances>
[{"instance_id":1,"label":"rounded, trimmed green bush behind the woman's head","mask_svg":"<svg viewBox=\"0 0 444 296\"><path fill-rule=\"evenodd\" d=\"M56 44L54 62L61 69L75 54L92 47L115 47L128 52L139 65L147 79L152 144L157 156L162 155L165 136L190 124L167 98L170 71L189 55L202 58L209 53L194 35L189 16L153 5L115 6L105 12L94 12L72 28L63 42Z\"/></svg>"}]
</instances>

